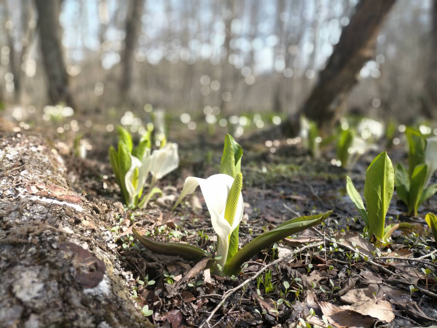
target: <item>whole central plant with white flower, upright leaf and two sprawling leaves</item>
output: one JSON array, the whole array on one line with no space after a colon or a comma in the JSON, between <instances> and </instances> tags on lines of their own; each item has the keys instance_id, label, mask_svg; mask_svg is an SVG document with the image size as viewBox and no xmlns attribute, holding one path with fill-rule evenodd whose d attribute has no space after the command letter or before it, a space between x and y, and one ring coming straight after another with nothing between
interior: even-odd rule
<instances>
[{"instance_id":1,"label":"whole central plant with white flower, upright leaf and two sprawling leaves","mask_svg":"<svg viewBox=\"0 0 437 328\"><path fill-rule=\"evenodd\" d=\"M225 138L220 174L207 179L188 177L176 202L176 207L185 195L191 194L200 185L206 205L211 215L212 227L217 234L217 252L220 258L213 267L215 274L237 276L244 262L258 252L291 234L322 223L332 211L311 216L299 216L285 221L276 228L256 237L238 250L238 227L243 218L243 175L240 172L243 149L230 135ZM187 259L208 256L196 246L181 243L162 243L142 236L132 229L134 236L146 248L161 254L179 255ZM214 261L212 261L214 262Z\"/></svg>"}]
</instances>

